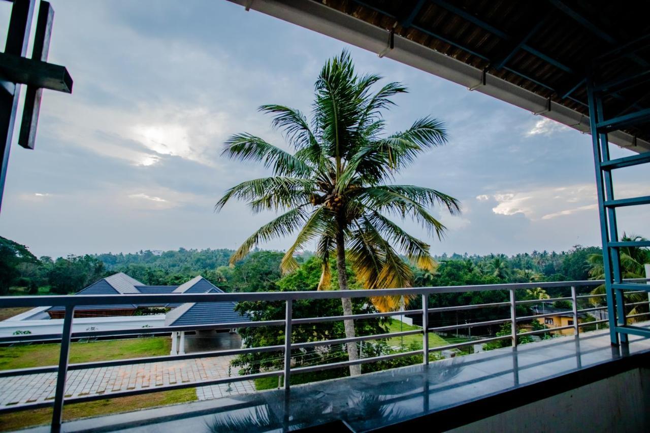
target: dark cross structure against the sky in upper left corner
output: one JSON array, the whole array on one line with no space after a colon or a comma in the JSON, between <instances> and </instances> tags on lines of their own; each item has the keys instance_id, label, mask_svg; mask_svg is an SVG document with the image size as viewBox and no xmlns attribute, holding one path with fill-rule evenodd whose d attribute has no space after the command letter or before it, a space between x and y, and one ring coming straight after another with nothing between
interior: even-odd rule
<instances>
[{"instance_id":1,"label":"dark cross structure against the sky in upper left corner","mask_svg":"<svg viewBox=\"0 0 650 433\"><path fill-rule=\"evenodd\" d=\"M0 153L2 154L0 207L5 190L9 151L18 111L20 85L27 85L27 92L18 144L26 149L34 148L43 89L72 93L72 77L68 70L64 66L47 63L47 52L54 20L54 10L51 5L47 1L40 1L32 57L28 59L25 54L27 53L36 0L13 0L13 3L5 52L0 52Z\"/></svg>"}]
</instances>

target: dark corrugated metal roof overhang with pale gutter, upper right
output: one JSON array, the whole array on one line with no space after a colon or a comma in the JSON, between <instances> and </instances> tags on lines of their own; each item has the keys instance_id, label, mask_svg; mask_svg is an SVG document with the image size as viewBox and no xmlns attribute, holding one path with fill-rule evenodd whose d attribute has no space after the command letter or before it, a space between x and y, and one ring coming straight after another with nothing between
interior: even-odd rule
<instances>
[{"instance_id":1,"label":"dark corrugated metal roof overhang with pale gutter, upper right","mask_svg":"<svg viewBox=\"0 0 650 433\"><path fill-rule=\"evenodd\" d=\"M610 142L650 151L650 21L625 2L231 0L590 132L586 79ZM634 114L636 113L636 114Z\"/></svg>"}]
</instances>

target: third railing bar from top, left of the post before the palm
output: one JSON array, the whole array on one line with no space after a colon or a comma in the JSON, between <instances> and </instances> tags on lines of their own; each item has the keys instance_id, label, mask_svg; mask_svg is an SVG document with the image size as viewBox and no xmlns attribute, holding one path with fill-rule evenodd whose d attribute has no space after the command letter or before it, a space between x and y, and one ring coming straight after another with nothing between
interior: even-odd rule
<instances>
[{"instance_id":1,"label":"third railing bar from top, left of the post before the palm","mask_svg":"<svg viewBox=\"0 0 650 433\"><path fill-rule=\"evenodd\" d=\"M211 350L209 352L193 352L193 353L186 353L181 355L148 356L146 358L127 358L124 360L82 362L76 364L69 364L68 371L101 368L101 367L118 367L120 365L136 365L136 364L167 362L167 361L194 360L196 358L218 358L219 356L244 355L248 353L283 352L283 351L284 351L284 345L247 347L247 348L239 348L239 349L231 349L231 350ZM58 370L59 367L57 365L48 365L47 367L31 367L28 369L0 370L0 377L16 376L18 374L51 373L53 371L58 371Z\"/></svg>"}]
</instances>

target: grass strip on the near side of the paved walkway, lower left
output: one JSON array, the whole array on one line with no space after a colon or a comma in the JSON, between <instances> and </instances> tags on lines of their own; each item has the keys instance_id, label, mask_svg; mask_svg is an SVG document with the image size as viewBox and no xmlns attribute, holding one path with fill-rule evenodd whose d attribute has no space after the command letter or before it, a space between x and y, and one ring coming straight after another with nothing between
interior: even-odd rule
<instances>
[{"instance_id":1,"label":"grass strip on the near side of the paved walkway, lower left","mask_svg":"<svg viewBox=\"0 0 650 433\"><path fill-rule=\"evenodd\" d=\"M144 395L131 395L119 399L105 399L85 403L66 404L63 408L64 421L108 415L109 413L132 412L134 410L186 403L196 400L196 388L174 389ZM0 415L0 431L12 431L29 426L51 422L51 408L19 411Z\"/></svg>"}]
</instances>

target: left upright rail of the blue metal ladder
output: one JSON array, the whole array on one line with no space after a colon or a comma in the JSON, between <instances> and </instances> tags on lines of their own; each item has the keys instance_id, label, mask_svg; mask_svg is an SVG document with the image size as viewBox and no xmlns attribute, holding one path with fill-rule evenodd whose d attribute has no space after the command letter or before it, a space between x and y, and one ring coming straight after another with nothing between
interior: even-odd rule
<instances>
[{"instance_id":1,"label":"left upright rail of the blue metal ladder","mask_svg":"<svg viewBox=\"0 0 650 433\"><path fill-rule=\"evenodd\" d=\"M601 168L601 135L597 132L597 104L593 91L591 78L587 79L587 98L589 101L589 124L591 129L591 146L593 148L593 164L596 172L596 192L598 196L598 214L601 224L601 243L603 244L603 268L605 280L605 293L607 298L607 318L610 328L610 341L612 345L618 345L618 333L616 332L616 305L612 293L612 271L610 269L610 255L608 253L607 215L604 207L603 170ZM605 146L607 144L605 143Z\"/></svg>"}]
</instances>

